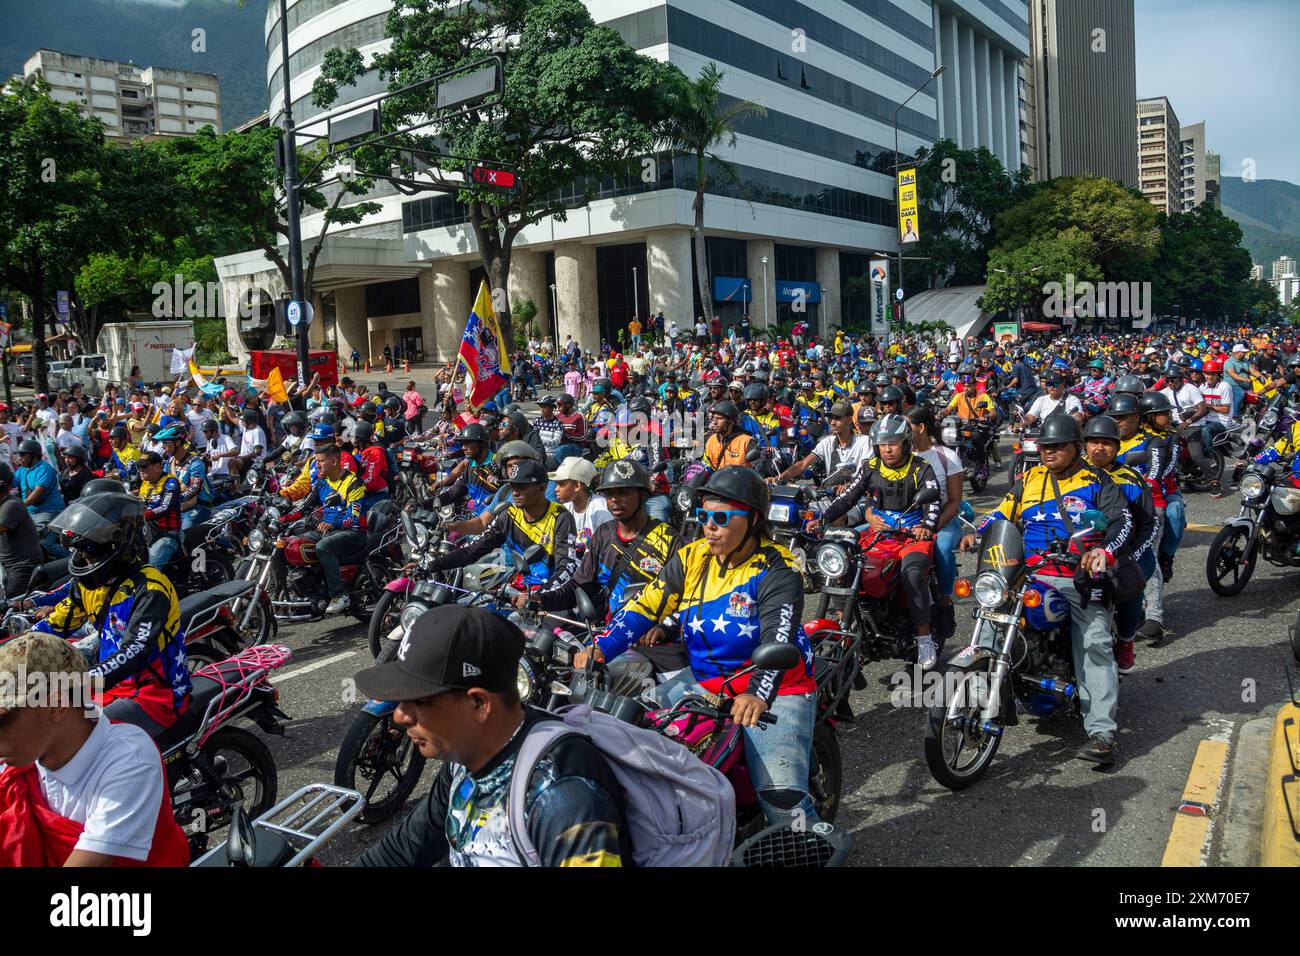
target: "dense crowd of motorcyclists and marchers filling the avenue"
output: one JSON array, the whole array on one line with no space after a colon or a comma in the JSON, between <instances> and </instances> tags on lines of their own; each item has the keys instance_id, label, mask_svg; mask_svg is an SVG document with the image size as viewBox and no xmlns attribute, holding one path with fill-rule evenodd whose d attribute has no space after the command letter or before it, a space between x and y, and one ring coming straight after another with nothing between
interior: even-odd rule
<instances>
[{"instance_id":1,"label":"dense crowd of motorcyclists and marchers filling the avenue","mask_svg":"<svg viewBox=\"0 0 1300 956\"><path fill-rule=\"evenodd\" d=\"M775 492L824 493L819 510L793 519L801 540L852 531L868 559L897 567L909 663L922 671L957 632L957 551L978 550L1000 522L1015 525L1032 575L1069 606L1087 735L1078 756L1109 765L1135 641L1176 624L1164 593L1187 527L1184 490L1223 497L1252 460L1300 472L1294 337L998 343L837 332L805 345L754 339L748 326L729 339L670 332L638 324L640 347L627 352L529 342L481 408L464 403L450 365L437 369L428 428L413 381L403 395L312 381L276 403L264 389L182 380L126 397L109 389L98 403L40 395L17 415L0 406L0 459L14 466L0 460L0 564L6 600L34 622L0 644L0 674L53 661L104 688L104 719L75 732L51 715L57 706L0 693L0 825L31 806L46 814L35 819L72 821L46 835L44 856L21 858L177 861L169 803L152 784L142 791L152 803L120 801L100 818L87 801L117 799L116 784L95 791L66 769L94 762L104 780L152 779L142 761L156 752L126 728L157 737L191 693L170 570L191 559L187 535L207 533L239 496L274 507L283 527L313 529L324 614L359 610L344 568L373 548L367 531L385 502L438 510L455 542L425 562L439 579L490 561L514 571L494 607L452 594L358 675L365 695L398 704L394 719L424 757L443 760L429 797L361 864L520 864L534 858L528 843L547 864L628 865L642 849L632 845L638 810L612 757L586 740L567 737L530 769L526 842L511 830L515 761L552 719L515 685L519 615L563 620L594 606L575 675L636 656L651 674L646 706L725 701L762 818L802 826L820 812L810 786L818 630L803 626L816 562L777 533L790 519L771 512ZM1227 441L1270 401L1287 412L1271 431ZM415 473L419 488L399 463L404 449L438 462ZM996 468L1009 490L975 522L966 485L982 492ZM268 471L282 472L274 486ZM62 557L66 580L30 593L32 574ZM833 613L826 622L842 623ZM82 653L68 656L68 641ZM797 662L759 666L763 645L790 645ZM35 775L18 773L31 765Z\"/></svg>"}]
</instances>

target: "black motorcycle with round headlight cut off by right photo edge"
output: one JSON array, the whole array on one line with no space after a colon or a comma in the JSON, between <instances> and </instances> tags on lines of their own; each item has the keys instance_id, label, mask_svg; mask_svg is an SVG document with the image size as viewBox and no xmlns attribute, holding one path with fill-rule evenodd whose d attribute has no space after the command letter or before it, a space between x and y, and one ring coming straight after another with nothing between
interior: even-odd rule
<instances>
[{"instance_id":1,"label":"black motorcycle with round headlight cut off by right photo edge","mask_svg":"<svg viewBox=\"0 0 1300 956\"><path fill-rule=\"evenodd\" d=\"M1300 475L1283 462L1252 462L1238 490L1242 509L1205 558L1205 576L1221 597L1247 585L1261 554L1278 567L1300 567Z\"/></svg>"}]
</instances>

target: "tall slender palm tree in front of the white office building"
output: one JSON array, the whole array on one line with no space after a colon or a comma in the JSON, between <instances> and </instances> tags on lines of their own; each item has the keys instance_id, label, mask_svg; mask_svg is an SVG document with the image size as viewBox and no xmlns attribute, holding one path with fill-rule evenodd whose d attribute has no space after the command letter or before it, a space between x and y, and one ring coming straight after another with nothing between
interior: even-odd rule
<instances>
[{"instance_id":1,"label":"tall slender palm tree in front of the white office building","mask_svg":"<svg viewBox=\"0 0 1300 956\"><path fill-rule=\"evenodd\" d=\"M716 64L708 62L696 81L686 79L677 108L667 125L666 139L673 151L686 152L696 157L696 281L699 284L699 302L706 312L711 311L712 297L708 294L708 261L705 256L705 186L708 183L710 166L729 185L744 193L744 183L736 168L712 152L723 144L736 146L736 127L750 117L763 117L767 109L749 100L722 103L723 73ZM766 293L764 293L766 294ZM708 316L705 316L708 320Z\"/></svg>"}]
</instances>

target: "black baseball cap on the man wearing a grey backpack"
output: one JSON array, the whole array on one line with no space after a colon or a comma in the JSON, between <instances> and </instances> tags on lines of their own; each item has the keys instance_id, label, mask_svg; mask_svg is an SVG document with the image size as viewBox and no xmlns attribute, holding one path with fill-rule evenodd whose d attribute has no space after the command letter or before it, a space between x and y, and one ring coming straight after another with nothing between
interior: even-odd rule
<instances>
[{"instance_id":1,"label":"black baseball cap on the man wearing a grey backpack","mask_svg":"<svg viewBox=\"0 0 1300 956\"><path fill-rule=\"evenodd\" d=\"M504 693L515 687L523 653L524 633L504 618L446 605L416 618L396 657L360 671L356 687L399 704L473 687Z\"/></svg>"}]
</instances>

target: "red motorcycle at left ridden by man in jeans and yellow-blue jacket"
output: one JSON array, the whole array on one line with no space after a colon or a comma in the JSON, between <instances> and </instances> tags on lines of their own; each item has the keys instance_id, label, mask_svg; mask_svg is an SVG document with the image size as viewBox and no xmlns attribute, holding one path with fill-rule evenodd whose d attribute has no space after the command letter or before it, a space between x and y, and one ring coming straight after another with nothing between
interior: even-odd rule
<instances>
[{"instance_id":1,"label":"red motorcycle at left ridden by man in jeans and yellow-blue jacket","mask_svg":"<svg viewBox=\"0 0 1300 956\"><path fill-rule=\"evenodd\" d=\"M367 516L364 554L339 568L352 598L347 613L363 622L369 619L384 593L384 583L403 561L398 546L402 529L394 520L395 512L391 502L381 501L372 507ZM248 557L239 567L239 578L254 583L254 600L263 592L270 594L280 622L320 620L325 617L329 594L316 557L316 544L321 538L316 531L320 515L321 509L317 509L286 528L285 514L272 506L248 535ZM247 605L244 614L251 614L252 607L252 604ZM243 619L240 624L247 626Z\"/></svg>"}]
</instances>

